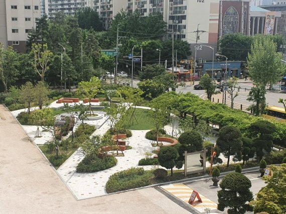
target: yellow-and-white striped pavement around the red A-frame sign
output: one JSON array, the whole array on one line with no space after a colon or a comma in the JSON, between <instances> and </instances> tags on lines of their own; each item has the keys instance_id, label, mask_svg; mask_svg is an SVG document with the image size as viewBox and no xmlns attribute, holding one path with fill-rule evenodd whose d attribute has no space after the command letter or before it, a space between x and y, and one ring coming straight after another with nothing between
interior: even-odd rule
<instances>
[{"instance_id":1,"label":"yellow-and-white striped pavement around the red A-frame sign","mask_svg":"<svg viewBox=\"0 0 286 214\"><path fill-rule=\"evenodd\" d=\"M189 186L182 184L182 183L176 183L176 184L168 184L161 186L165 191L168 191L169 193L173 194L177 198L181 199L182 201L188 203L190 196L194 189L190 188ZM201 199L203 202L195 201L193 205L189 204L199 212L206 212L206 210L214 210L217 209L217 203L211 201L207 197L201 195L199 193Z\"/></svg>"}]
</instances>

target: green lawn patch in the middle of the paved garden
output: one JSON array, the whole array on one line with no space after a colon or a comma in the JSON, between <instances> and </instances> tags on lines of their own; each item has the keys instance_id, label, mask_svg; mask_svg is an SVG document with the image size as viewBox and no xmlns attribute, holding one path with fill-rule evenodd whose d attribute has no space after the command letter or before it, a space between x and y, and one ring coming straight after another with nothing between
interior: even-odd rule
<instances>
[{"instance_id":1,"label":"green lawn patch in the middle of the paved garden","mask_svg":"<svg viewBox=\"0 0 286 214\"><path fill-rule=\"evenodd\" d=\"M132 120L130 122L130 125L127 125L127 129L130 130L150 130L150 129L154 129L154 125L150 119L150 117L148 116L148 112L150 110L148 109L140 109L140 108L136 108L134 116L137 120L133 119L133 125L132 125ZM128 116L128 120L127 123L130 120L130 116Z\"/></svg>"}]
</instances>

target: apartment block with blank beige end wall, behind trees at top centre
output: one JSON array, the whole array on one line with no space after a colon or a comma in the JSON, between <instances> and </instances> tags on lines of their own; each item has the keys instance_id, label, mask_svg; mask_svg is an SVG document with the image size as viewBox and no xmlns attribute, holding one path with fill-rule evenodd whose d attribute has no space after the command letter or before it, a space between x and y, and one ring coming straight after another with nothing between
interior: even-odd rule
<instances>
[{"instance_id":1,"label":"apartment block with blank beige end wall, behind trees at top centre","mask_svg":"<svg viewBox=\"0 0 286 214\"><path fill-rule=\"evenodd\" d=\"M103 23L103 28L107 30L113 16L115 16L121 9L126 9L127 0L94 0L93 9L99 15Z\"/></svg>"}]
</instances>

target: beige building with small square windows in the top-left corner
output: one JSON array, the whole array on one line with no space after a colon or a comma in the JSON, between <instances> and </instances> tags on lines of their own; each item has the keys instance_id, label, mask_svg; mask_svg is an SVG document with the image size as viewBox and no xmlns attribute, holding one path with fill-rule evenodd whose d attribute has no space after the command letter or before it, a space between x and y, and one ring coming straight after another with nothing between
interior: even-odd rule
<instances>
[{"instance_id":1,"label":"beige building with small square windows in the top-left corner","mask_svg":"<svg viewBox=\"0 0 286 214\"><path fill-rule=\"evenodd\" d=\"M26 51L28 33L41 18L40 0L0 0L0 43Z\"/></svg>"}]
</instances>

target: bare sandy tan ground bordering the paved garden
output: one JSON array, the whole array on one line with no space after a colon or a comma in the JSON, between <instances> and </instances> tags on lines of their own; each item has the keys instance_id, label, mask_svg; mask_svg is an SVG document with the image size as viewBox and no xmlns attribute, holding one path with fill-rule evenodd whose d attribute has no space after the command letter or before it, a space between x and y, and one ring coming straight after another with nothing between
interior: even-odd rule
<instances>
[{"instance_id":1,"label":"bare sandy tan ground bordering the paved garden","mask_svg":"<svg viewBox=\"0 0 286 214\"><path fill-rule=\"evenodd\" d=\"M0 105L1 213L189 213L154 188L77 201Z\"/></svg>"}]
</instances>

